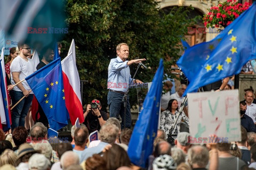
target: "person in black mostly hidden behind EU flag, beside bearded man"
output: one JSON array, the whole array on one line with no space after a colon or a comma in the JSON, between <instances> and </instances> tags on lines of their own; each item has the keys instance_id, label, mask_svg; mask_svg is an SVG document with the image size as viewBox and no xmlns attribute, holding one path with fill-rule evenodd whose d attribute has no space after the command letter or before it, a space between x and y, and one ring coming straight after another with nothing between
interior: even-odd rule
<instances>
[{"instance_id":1,"label":"person in black mostly hidden behind EU flag, beside bearded man","mask_svg":"<svg viewBox=\"0 0 256 170\"><path fill-rule=\"evenodd\" d=\"M53 49L51 48L47 48L44 50L45 53L43 54L43 58L42 60L40 61L40 63L36 66L36 69L39 70L41 69L43 66L49 64L52 60L53 60L53 56L54 56L54 52L53 52ZM41 105L38 103L38 113L40 115L39 119L38 119L38 122L42 122L46 128L48 128L48 120L47 120L47 117L41 107ZM36 116L37 117L37 116Z\"/></svg>"}]
</instances>

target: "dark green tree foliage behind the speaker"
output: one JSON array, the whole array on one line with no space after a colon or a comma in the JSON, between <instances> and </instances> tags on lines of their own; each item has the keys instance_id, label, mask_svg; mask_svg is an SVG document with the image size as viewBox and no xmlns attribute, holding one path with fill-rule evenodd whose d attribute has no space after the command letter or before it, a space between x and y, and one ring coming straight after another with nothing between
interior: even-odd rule
<instances>
[{"instance_id":1,"label":"dark green tree foliage behind the speaker","mask_svg":"<svg viewBox=\"0 0 256 170\"><path fill-rule=\"evenodd\" d=\"M88 81L84 104L97 98L107 105L108 64L116 56L119 43L129 44L130 60L147 59L149 69L140 68L136 79L151 81L160 58L164 58L165 73L170 72L168 68L180 57L180 38L191 20L185 8L164 14L157 6L153 0L67 0L69 32L62 43L68 48L75 39L80 79ZM130 69L133 75L137 65ZM130 102L137 102L137 96L130 95Z\"/></svg>"}]
</instances>

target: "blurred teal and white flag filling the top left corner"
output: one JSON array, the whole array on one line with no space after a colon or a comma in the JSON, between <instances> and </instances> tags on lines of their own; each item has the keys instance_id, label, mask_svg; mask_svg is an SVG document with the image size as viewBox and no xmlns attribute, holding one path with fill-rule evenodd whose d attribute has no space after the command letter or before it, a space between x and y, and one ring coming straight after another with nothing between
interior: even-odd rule
<instances>
[{"instance_id":1,"label":"blurred teal and white flag filling the top left corner","mask_svg":"<svg viewBox=\"0 0 256 170\"><path fill-rule=\"evenodd\" d=\"M52 47L54 40L68 33L64 6L62 0L0 1L0 16L5 16L0 27L8 38L15 37L35 48Z\"/></svg>"}]
</instances>

